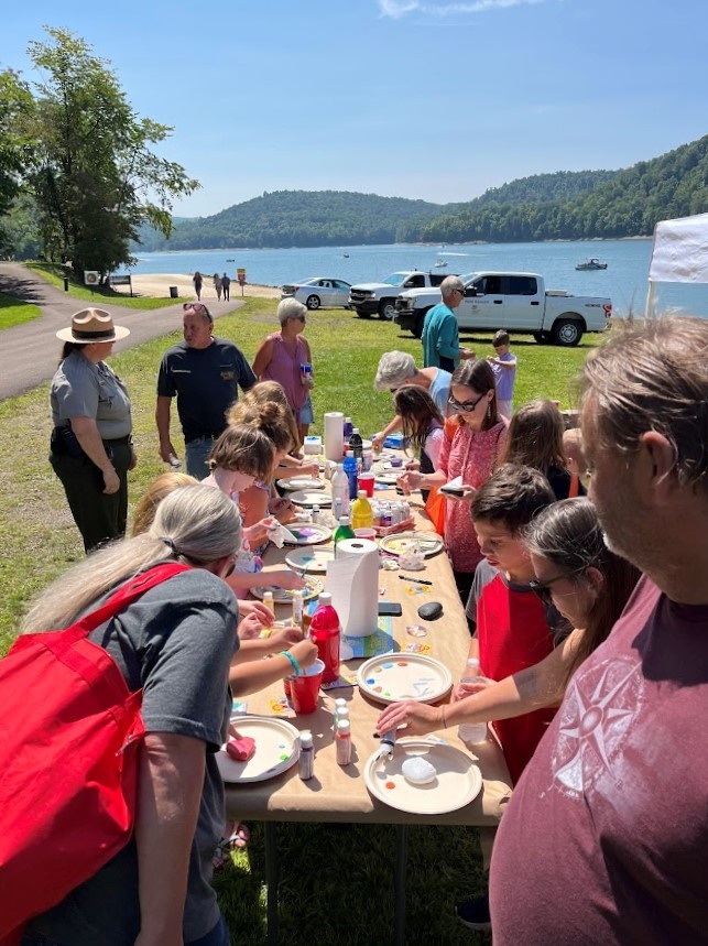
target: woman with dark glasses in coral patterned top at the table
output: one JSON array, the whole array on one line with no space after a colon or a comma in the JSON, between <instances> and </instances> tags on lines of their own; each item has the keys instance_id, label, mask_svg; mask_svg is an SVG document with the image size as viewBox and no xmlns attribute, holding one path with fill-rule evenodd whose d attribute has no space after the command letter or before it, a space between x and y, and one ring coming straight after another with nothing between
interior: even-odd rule
<instances>
[{"instance_id":1,"label":"woman with dark glasses in coral patterned top at the table","mask_svg":"<svg viewBox=\"0 0 708 946\"><path fill-rule=\"evenodd\" d=\"M450 409L455 416L446 424L446 435L432 474L406 470L399 478L404 492L461 482L459 498L446 499L445 544L462 604L467 604L475 568L482 558L469 518L469 500L491 476L504 445L507 422L497 413L497 388L487 361L465 361L453 374ZM451 429L451 436L448 432Z\"/></svg>"}]
</instances>

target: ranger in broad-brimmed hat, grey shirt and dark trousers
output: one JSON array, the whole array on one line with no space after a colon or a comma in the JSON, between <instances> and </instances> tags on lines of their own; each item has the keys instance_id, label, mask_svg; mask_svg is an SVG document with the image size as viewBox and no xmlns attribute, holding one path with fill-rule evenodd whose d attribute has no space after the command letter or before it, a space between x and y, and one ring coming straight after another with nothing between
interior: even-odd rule
<instances>
[{"instance_id":1,"label":"ranger in broad-brimmed hat, grey shirt and dark trousers","mask_svg":"<svg viewBox=\"0 0 708 946\"><path fill-rule=\"evenodd\" d=\"M128 470L137 464L130 400L104 359L129 334L100 308L77 312L70 328L56 333L64 348L50 391L50 463L86 552L126 533Z\"/></svg>"}]
</instances>

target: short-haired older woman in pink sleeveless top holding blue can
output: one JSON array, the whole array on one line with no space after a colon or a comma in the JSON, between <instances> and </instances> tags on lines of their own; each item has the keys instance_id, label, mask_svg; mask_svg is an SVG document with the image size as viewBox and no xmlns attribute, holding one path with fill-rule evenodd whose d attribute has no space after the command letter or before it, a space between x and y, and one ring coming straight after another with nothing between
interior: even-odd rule
<instances>
[{"instance_id":1,"label":"short-haired older woman in pink sleeveless top holding blue can","mask_svg":"<svg viewBox=\"0 0 708 946\"><path fill-rule=\"evenodd\" d=\"M314 423L313 387L309 345L303 338L307 308L296 298L284 298L277 306L281 330L261 342L253 359L253 373L259 381L277 381L282 384L287 403L295 416L301 444ZM307 366L308 371L305 371Z\"/></svg>"}]
</instances>

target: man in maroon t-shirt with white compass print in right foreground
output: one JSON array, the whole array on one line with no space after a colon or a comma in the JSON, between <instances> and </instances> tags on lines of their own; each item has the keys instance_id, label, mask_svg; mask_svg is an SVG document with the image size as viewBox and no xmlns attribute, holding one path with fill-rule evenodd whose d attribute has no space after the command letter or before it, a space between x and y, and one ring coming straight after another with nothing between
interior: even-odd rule
<instances>
[{"instance_id":1,"label":"man in maroon t-shirt with white compass print in right foreground","mask_svg":"<svg viewBox=\"0 0 708 946\"><path fill-rule=\"evenodd\" d=\"M628 324L584 374L590 498L644 572L498 833L494 946L708 943L708 323Z\"/></svg>"}]
</instances>

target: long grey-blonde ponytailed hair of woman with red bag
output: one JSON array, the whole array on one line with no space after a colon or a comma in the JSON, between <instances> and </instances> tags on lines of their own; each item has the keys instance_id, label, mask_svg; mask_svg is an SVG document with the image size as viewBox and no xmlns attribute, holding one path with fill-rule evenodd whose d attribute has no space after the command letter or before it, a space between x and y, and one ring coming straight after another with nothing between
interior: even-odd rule
<instances>
[{"instance_id":1,"label":"long grey-blonde ponytailed hair of woman with red bag","mask_svg":"<svg viewBox=\"0 0 708 946\"><path fill-rule=\"evenodd\" d=\"M162 500L145 534L94 552L45 588L20 633L66 628L109 591L154 565L177 558L207 566L236 554L240 544L241 520L228 497L200 483L179 487Z\"/></svg>"}]
</instances>

